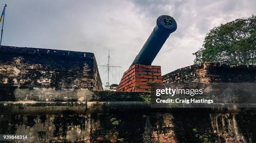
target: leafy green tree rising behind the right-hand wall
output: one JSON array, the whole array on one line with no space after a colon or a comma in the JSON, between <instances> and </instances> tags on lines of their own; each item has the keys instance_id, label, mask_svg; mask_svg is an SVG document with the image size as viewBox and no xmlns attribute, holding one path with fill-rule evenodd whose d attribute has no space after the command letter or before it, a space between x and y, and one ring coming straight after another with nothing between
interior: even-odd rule
<instances>
[{"instance_id":1,"label":"leafy green tree rising behind the right-hand wall","mask_svg":"<svg viewBox=\"0 0 256 143\"><path fill-rule=\"evenodd\" d=\"M256 64L256 16L241 18L212 28L194 62Z\"/></svg>"}]
</instances>

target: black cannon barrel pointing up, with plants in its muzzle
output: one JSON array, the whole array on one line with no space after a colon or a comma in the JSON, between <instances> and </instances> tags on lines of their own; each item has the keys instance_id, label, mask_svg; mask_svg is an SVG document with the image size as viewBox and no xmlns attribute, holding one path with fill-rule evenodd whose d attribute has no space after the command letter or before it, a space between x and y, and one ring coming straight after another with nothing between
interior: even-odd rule
<instances>
[{"instance_id":1,"label":"black cannon barrel pointing up, with plants in its muzzle","mask_svg":"<svg viewBox=\"0 0 256 143\"><path fill-rule=\"evenodd\" d=\"M177 23L174 18L168 15L159 16L156 20L156 27L151 32L151 35L148 37L131 66L134 64L151 65L166 39L176 29Z\"/></svg>"}]
</instances>

